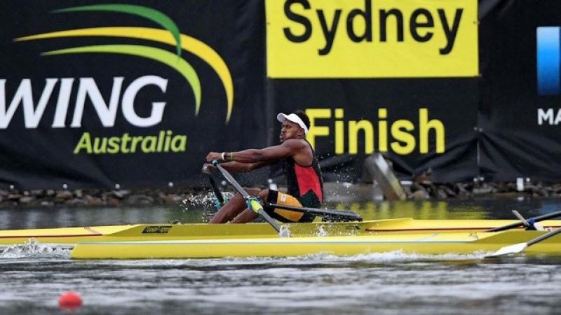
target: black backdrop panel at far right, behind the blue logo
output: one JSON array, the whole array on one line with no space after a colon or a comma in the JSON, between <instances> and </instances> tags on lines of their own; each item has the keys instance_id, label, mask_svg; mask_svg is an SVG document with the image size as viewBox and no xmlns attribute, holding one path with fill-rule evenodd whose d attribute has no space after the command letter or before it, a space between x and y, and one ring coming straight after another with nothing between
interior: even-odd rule
<instances>
[{"instance_id":1,"label":"black backdrop panel at far right, behind the blue logo","mask_svg":"<svg viewBox=\"0 0 561 315\"><path fill-rule=\"evenodd\" d=\"M561 96L539 94L536 34L538 27L561 26L561 3L484 3L480 8L480 173L489 181L517 177L559 181L561 134L555 116ZM539 109L555 113L553 124L539 124Z\"/></svg>"}]
</instances>

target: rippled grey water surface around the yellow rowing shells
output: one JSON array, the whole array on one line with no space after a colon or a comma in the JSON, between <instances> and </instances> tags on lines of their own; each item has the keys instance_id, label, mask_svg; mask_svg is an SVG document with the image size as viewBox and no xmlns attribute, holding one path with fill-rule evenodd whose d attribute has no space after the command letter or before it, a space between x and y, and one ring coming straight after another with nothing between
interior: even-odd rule
<instances>
[{"instance_id":1,"label":"rippled grey water surface around the yellow rowing shells","mask_svg":"<svg viewBox=\"0 0 561 315\"><path fill-rule=\"evenodd\" d=\"M177 207L0 210L0 228L204 222L212 209ZM331 204L366 219L512 218L561 200ZM0 314L561 314L561 258L413 255L339 258L73 261L29 245L0 255ZM60 293L84 305L61 310Z\"/></svg>"}]
</instances>

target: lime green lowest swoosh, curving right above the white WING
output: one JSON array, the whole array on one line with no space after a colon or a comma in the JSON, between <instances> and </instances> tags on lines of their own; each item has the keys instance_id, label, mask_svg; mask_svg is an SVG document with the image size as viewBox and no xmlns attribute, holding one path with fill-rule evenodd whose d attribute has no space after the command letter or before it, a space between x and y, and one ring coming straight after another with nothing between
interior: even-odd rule
<instances>
[{"instance_id":1,"label":"lime green lowest swoosh, curving right above the white WING","mask_svg":"<svg viewBox=\"0 0 561 315\"><path fill-rule=\"evenodd\" d=\"M177 59L177 56L168 52L168 50L142 45L92 45L53 50L43 52L41 55L64 55L83 52L112 52L116 54L135 55L154 59L171 66L173 69L177 70L177 72L181 73L182 76L187 79L189 85L191 85L193 93L195 94L195 115L198 115L198 110L201 107L201 81L198 80L197 73L190 64L184 59Z\"/></svg>"}]
</instances>

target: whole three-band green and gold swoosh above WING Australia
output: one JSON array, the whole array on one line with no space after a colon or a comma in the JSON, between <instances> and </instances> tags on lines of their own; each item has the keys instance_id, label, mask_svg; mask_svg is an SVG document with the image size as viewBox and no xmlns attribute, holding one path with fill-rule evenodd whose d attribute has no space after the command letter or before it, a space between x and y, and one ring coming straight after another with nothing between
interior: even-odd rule
<instances>
[{"instance_id":1,"label":"whole three-band green and gold swoosh above WING Australia","mask_svg":"<svg viewBox=\"0 0 561 315\"><path fill-rule=\"evenodd\" d=\"M217 73L218 77L224 85L227 98L227 116L226 123L229 123L232 110L234 109L234 83L231 73L228 69L226 62L218 55L215 50L210 48L198 39L181 34L175 22L168 18L167 15L158 10L147 8L144 6L135 6L130 4L100 4L92 6L75 6L71 8L62 8L53 10L52 13L69 13L79 11L111 11L119 13L128 13L147 18L165 29L154 29L149 27L95 27L86 29L71 29L67 31L53 31L50 33L36 34L31 36L23 36L15 38L15 41L32 41L36 39L46 38L60 38L70 36L106 36L106 37L126 37L126 38L140 38L147 41L156 41L173 45L177 52L177 56L170 54L165 50L158 48L150 48L143 45L91 45L76 48L66 48L61 50L53 50L50 52L43 52L42 55L62 55L69 53L83 53L83 52L109 52L120 53L126 55L136 55L146 57L149 59L162 62L173 69L177 70L187 79L191 89L195 94L196 109L195 114L201 106L201 82L198 79L193 67L181 58L181 49L191 52L197 57L203 59L212 69ZM167 52L167 53L166 53ZM174 60L170 59L170 55L175 57Z\"/></svg>"}]
</instances>

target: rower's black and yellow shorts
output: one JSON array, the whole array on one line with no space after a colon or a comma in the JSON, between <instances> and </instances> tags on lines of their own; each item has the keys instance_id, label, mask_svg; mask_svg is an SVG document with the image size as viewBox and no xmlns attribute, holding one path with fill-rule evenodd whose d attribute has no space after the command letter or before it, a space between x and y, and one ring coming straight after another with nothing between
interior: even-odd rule
<instances>
[{"instance_id":1,"label":"rower's black and yellow shorts","mask_svg":"<svg viewBox=\"0 0 561 315\"><path fill-rule=\"evenodd\" d=\"M302 195L302 197L294 197L285 193L280 193L276 190L269 190L269 197L267 197L267 202L271 204L283 204L291 207L309 207L318 208L321 206L321 202L313 191L309 190L308 193ZM313 214L304 214L299 211L291 211L280 208L264 207L265 211L272 218L276 218L280 222L284 223L304 223L311 222L316 218Z\"/></svg>"}]
</instances>

